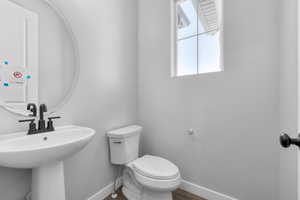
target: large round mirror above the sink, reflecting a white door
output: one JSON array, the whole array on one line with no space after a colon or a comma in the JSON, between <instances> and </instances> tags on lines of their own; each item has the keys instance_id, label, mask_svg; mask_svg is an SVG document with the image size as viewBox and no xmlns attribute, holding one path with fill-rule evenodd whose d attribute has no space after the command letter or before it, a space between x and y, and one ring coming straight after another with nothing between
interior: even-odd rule
<instances>
[{"instance_id":1,"label":"large round mirror above the sink, reflecting a white door","mask_svg":"<svg viewBox=\"0 0 300 200\"><path fill-rule=\"evenodd\" d=\"M0 105L30 115L29 103L50 112L70 98L79 75L77 41L62 12L48 0L2 0Z\"/></svg>"}]
</instances>

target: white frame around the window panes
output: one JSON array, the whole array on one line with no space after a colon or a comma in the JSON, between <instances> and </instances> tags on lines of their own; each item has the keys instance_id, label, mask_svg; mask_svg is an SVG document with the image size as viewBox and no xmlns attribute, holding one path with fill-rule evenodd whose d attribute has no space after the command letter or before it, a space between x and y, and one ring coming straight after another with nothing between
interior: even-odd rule
<instances>
[{"instance_id":1,"label":"white frame around the window panes","mask_svg":"<svg viewBox=\"0 0 300 200\"><path fill-rule=\"evenodd\" d=\"M186 77L186 76L199 76L203 74L211 74L211 73L217 73L217 72L223 72L224 71L224 0L220 1L220 70L218 71L210 71L210 72L199 72L199 65L197 66L197 73L194 74L186 74L186 75L178 75L178 49L177 49L177 6L176 2L178 0L170 0L170 8L171 8L171 77L172 78L180 78L180 77ZM198 34L198 33L197 33ZM197 44L198 48L198 44Z\"/></svg>"}]
</instances>

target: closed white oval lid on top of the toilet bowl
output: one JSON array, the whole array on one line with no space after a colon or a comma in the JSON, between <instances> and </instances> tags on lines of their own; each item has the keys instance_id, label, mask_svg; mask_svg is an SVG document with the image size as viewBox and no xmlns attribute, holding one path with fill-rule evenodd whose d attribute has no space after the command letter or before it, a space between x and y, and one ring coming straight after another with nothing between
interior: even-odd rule
<instances>
[{"instance_id":1,"label":"closed white oval lid on top of the toilet bowl","mask_svg":"<svg viewBox=\"0 0 300 200\"><path fill-rule=\"evenodd\" d=\"M143 156L135 160L132 166L139 174L153 179L168 180L179 175L179 169L176 165L156 156Z\"/></svg>"}]
</instances>

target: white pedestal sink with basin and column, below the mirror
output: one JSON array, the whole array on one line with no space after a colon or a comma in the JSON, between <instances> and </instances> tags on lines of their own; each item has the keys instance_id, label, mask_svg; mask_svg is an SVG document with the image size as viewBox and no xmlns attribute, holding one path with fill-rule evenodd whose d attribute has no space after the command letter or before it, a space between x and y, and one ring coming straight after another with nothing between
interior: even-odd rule
<instances>
[{"instance_id":1,"label":"white pedestal sink with basin and column, below the mirror","mask_svg":"<svg viewBox=\"0 0 300 200\"><path fill-rule=\"evenodd\" d=\"M65 200L63 160L82 150L94 135L90 128L65 126L38 135L0 136L0 166L32 168L32 200Z\"/></svg>"}]
</instances>

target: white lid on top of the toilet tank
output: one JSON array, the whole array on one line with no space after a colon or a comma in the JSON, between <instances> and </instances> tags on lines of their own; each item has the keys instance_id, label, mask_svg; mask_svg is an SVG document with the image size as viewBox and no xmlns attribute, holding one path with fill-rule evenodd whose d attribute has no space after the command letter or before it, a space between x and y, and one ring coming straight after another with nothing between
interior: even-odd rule
<instances>
[{"instance_id":1,"label":"white lid on top of the toilet tank","mask_svg":"<svg viewBox=\"0 0 300 200\"><path fill-rule=\"evenodd\" d=\"M136 134L140 134L142 131L142 127L138 125L127 126L124 128L111 130L107 132L107 136L109 138L127 138L131 136L135 136Z\"/></svg>"}]
</instances>

